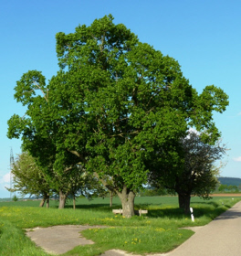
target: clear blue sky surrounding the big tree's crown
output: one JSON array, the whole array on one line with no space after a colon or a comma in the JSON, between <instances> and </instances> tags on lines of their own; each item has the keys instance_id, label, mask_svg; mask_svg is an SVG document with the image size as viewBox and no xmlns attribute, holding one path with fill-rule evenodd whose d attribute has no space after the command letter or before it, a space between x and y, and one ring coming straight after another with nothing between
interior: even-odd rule
<instances>
[{"instance_id":1,"label":"clear blue sky surrounding the big tree's crown","mask_svg":"<svg viewBox=\"0 0 241 256\"><path fill-rule=\"evenodd\" d=\"M25 110L14 100L16 80L31 69L47 80L58 70L55 35L111 14L141 42L177 59L183 75L201 92L215 84L230 104L215 123L230 151L222 176L241 177L241 2L238 0L2 0L0 1L0 197L9 197L10 150L21 141L6 137L7 120Z\"/></svg>"}]
</instances>

